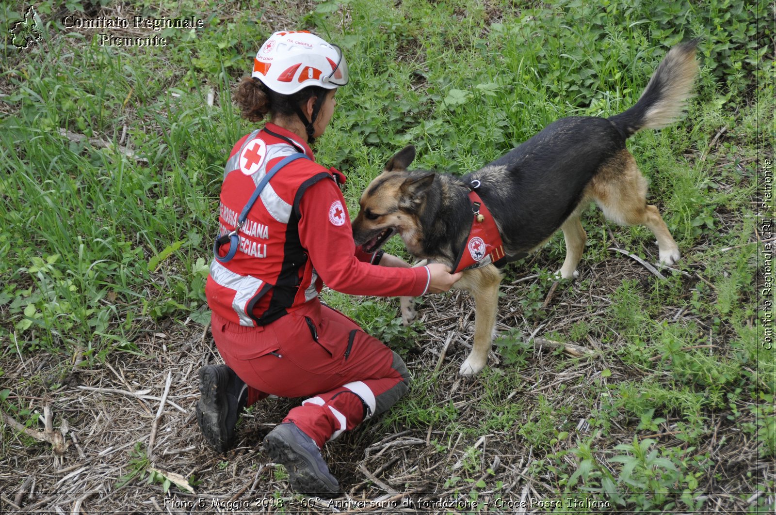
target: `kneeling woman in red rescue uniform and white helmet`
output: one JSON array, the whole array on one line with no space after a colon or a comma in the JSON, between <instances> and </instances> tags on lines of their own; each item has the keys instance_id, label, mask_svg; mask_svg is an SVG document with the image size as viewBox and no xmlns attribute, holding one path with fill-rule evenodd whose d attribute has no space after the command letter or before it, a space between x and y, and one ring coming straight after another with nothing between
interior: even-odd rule
<instances>
[{"instance_id":1,"label":"kneeling woman in red rescue uniform and white helmet","mask_svg":"<svg viewBox=\"0 0 776 515\"><path fill-rule=\"evenodd\" d=\"M264 439L294 489L339 491L320 449L407 391L404 361L347 316L324 306L324 282L352 295L420 296L460 274L442 264L409 268L355 247L340 187L310 145L348 82L341 50L307 32L274 33L235 100L251 122L237 141L220 194L220 235L207 278L212 330L226 365L199 371L197 420L217 451L234 444L241 410L268 395L308 397Z\"/></svg>"}]
</instances>

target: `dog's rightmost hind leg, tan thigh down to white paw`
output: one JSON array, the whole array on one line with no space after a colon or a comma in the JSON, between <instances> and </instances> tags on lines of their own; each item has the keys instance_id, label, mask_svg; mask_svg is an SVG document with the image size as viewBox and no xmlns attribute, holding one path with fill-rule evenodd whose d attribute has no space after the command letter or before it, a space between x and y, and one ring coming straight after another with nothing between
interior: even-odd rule
<instances>
[{"instance_id":1,"label":"dog's rightmost hind leg, tan thigh down to white paw","mask_svg":"<svg viewBox=\"0 0 776 515\"><path fill-rule=\"evenodd\" d=\"M663 264L671 266L679 261L679 246L671 237L660 211L646 203L646 179L628 150L622 150L608 161L605 169L593 179L588 194L613 222L649 228L657 239Z\"/></svg>"}]
</instances>

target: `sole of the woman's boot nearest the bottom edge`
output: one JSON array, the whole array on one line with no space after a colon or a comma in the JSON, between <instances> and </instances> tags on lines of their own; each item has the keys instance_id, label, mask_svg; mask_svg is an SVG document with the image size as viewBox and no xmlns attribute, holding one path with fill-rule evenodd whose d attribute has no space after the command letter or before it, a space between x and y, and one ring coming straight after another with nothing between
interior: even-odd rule
<instances>
[{"instance_id":1,"label":"sole of the woman's boot nearest the bottom edge","mask_svg":"<svg viewBox=\"0 0 776 515\"><path fill-rule=\"evenodd\" d=\"M317 468L315 459L302 446L296 444L293 435L285 426L275 427L264 438L264 450L272 461L286 467L289 482L297 492L327 498L339 493L337 480Z\"/></svg>"}]
</instances>

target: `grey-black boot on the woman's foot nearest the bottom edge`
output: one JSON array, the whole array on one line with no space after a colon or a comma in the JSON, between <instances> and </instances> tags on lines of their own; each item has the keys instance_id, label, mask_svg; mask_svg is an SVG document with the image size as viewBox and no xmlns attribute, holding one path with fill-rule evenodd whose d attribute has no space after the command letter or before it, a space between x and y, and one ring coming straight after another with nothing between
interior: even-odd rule
<instances>
[{"instance_id":1,"label":"grey-black boot on the woman's foot nearest the bottom edge","mask_svg":"<svg viewBox=\"0 0 776 515\"><path fill-rule=\"evenodd\" d=\"M293 422L281 423L264 437L264 450L272 461L286 467L297 492L331 498L339 493L337 478L320 455L312 438Z\"/></svg>"}]
</instances>

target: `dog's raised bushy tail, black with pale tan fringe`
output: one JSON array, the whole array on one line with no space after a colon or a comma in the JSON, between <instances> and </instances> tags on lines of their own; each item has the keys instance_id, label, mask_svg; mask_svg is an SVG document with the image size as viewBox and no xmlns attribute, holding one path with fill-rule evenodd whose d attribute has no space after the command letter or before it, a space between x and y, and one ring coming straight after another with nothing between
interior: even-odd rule
<instances>
[{"instance_id":1,"label":"dog's raised bushy tail, black with pale tan fringe","mask_svg":"<svg viewBox=\"0 0 776 515\"><path fill-rule=\"evenodd\" d=\"M631 137L642 129L662 129L681 116L698 75L698 62L695 60L697 45L698 40L691 40L669 50L639 102L609 118L625 137Z\"/></svg>"}]
</instances>

